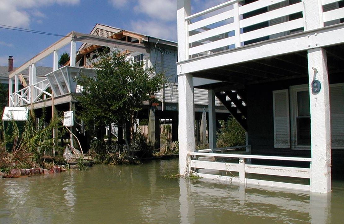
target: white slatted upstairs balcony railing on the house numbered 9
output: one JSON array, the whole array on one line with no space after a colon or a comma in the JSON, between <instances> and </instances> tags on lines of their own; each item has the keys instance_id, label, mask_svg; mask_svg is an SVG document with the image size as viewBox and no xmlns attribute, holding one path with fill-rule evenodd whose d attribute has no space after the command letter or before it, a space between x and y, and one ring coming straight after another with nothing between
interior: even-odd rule
<instances>
[{"instance_id":1,"label":"white slatted upstairs balcony railing on the house numbered 9","mask_svg":"<svg viewBox=\"0 0 344 224\"><path fill-rule=\"evenodd\" d=\"M185 17L189 58L304 31L307 2L291 5L288 2L258 0L241 5L239 0L231 0ZM338 8L338 0L322 0L321 4L329 10L323 12L324 25L329 21L332 21L329 25L340 23L344 8ZM264 8L267 9L264 13L255 12ZM262 28L255 29L259 24Z\"/></svg>"}]
</instances>

